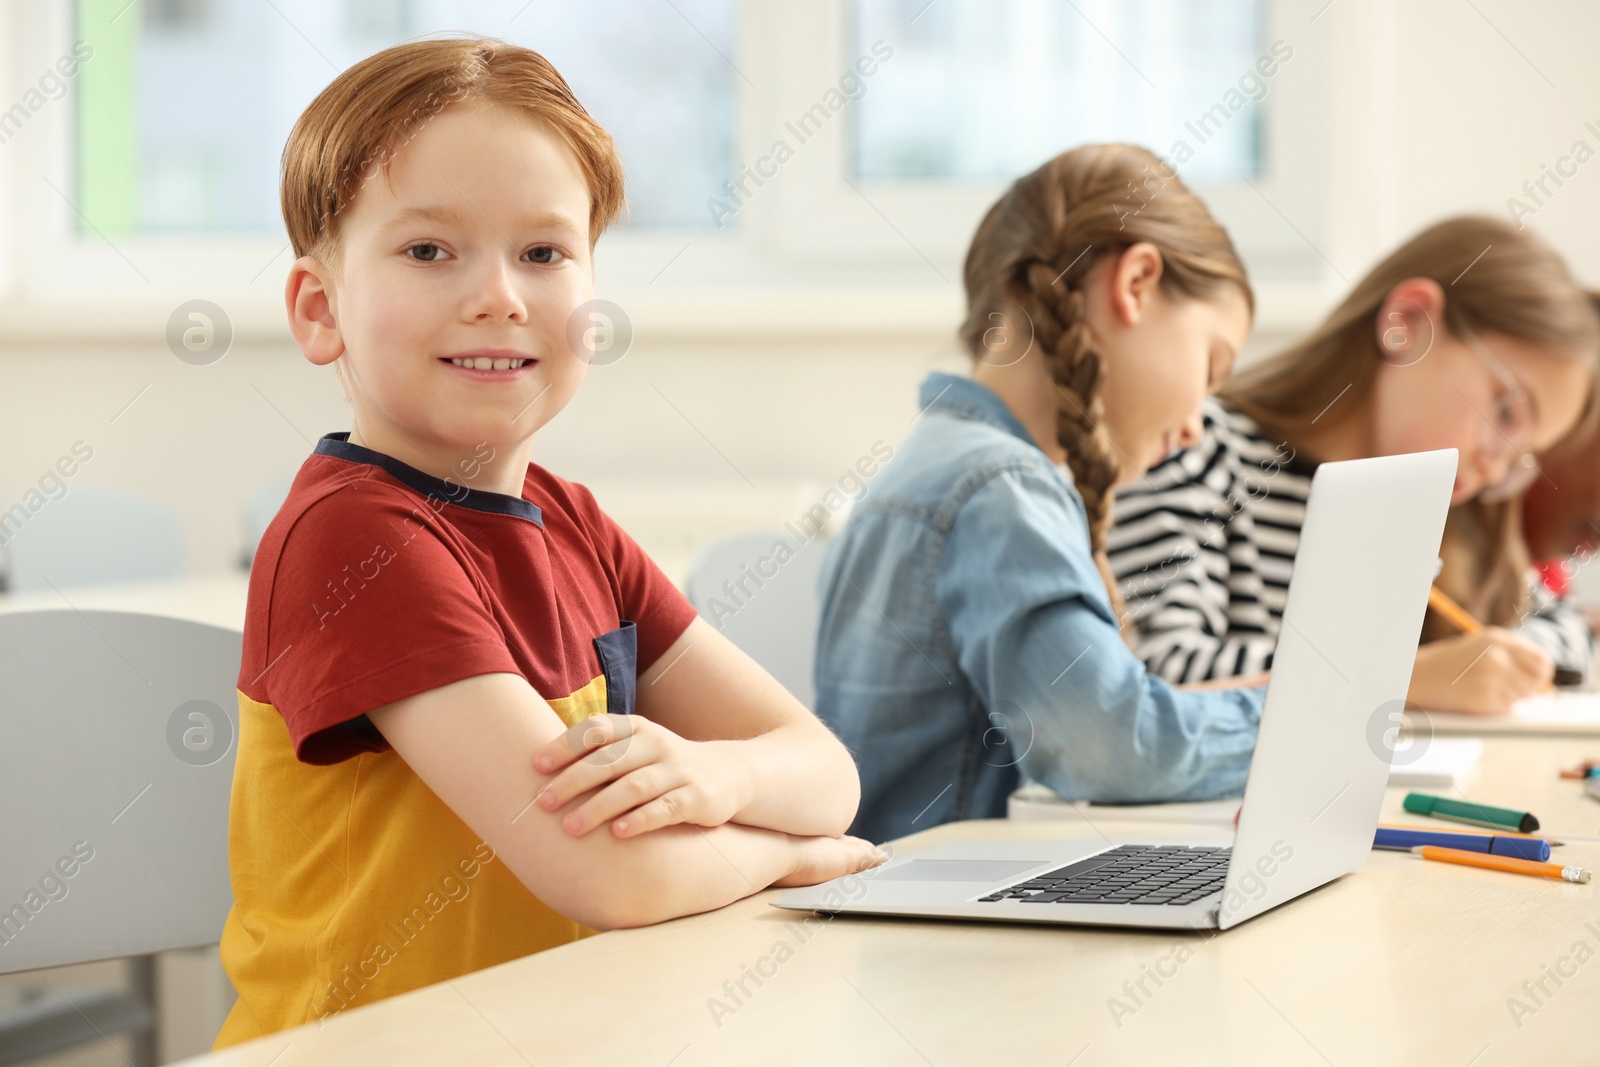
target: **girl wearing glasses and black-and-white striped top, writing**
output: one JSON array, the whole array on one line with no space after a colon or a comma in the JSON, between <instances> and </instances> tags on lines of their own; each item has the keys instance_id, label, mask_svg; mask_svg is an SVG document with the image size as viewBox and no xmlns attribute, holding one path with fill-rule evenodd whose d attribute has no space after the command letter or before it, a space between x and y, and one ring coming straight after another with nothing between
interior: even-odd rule
<instances>
[{"instance_id":1,"label":"girl wearing glasses and black-and-white striped top, writing","mask_svg":"<svg viewBox=\"0 0 1600 1067\"><path fill-rule=\"evenodd\" d=\"M1411 702L1502 712L1558 667L1587 672L1582 617L1531 600L1517 498L1539 453L1594 422L1597 366L1589 298L1531 232L1454 218L1418 234L1117 496L1107 549L1136 654L1174 683L1259 683L1317 464L1456 448L1438 585L1490 625L1430 611Z\"/></svg>"}]
</instances>

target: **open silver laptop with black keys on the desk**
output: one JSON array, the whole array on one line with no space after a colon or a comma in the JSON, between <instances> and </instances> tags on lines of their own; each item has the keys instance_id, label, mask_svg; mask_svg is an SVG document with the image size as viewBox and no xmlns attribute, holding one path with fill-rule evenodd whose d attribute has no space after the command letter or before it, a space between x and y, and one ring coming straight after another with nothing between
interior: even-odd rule
<instances>
[{"instance_id":1,"label":"open silver laptop with black keys on the desk","mask_svg":"<svg viewBox=\"0 0 1600 1067\"><path fill-rule=\"evenodd\" d=\"M1227 929L1355 870L1373 848L1384 734L1405 705L1454 475L1453 448L1317 467L1230 848L950 841L774 905Z\"/></svg>"}]
</instances>

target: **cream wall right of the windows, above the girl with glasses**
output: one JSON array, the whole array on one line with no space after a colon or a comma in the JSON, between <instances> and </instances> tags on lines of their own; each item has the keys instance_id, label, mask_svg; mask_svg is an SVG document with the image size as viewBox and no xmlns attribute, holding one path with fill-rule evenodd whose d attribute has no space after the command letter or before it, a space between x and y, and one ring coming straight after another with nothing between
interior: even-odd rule
<instances>
[{"instance_id":1,"label":"cream wall right of the windows, above the girl with glasses","mask_svg":"<svg viewBox=\"0 0 1600 1067\"><path fill-rule=\"evenodd\" d=\"M1526 200L1522 184L1576 139L1600 154L1592 3L1336 0L1318 26L1330 21L1339 56L1330 259L1352 280L1442 216L1510 218L1507 198ZM1600 165L1579 168L1528 222L1582 278L1600 280Z\"/></svg>"}]
</instances>

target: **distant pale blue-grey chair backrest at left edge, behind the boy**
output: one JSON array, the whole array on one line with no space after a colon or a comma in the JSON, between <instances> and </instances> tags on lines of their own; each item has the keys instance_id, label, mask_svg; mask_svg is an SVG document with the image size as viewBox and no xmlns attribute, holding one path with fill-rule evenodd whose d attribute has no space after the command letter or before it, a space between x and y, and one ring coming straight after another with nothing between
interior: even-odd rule
<instances>
[{"instance_id":1,"label":"distant pale blue-grey chair backrest at left edge, behind the boy","mask_svg":"<svg viewBox=\"0 0 1600 1067\"><path fill-rule=\"evenodd\" d=\"M11 592L184 577L189 552L178 517L142 496L72 486L0 515Z\"/></svg>"}]
</instances>

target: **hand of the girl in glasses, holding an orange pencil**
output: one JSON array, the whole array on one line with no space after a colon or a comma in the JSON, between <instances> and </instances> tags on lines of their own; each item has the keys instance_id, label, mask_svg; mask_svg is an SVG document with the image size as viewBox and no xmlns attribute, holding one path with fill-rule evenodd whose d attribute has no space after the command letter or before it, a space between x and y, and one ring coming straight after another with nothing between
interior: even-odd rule
<instances>
[{"instance_id":1,"label":"hand of the girl in glasses, holding an orange pencil","mask_svg":"<svg viewBox=\"0 0 1600 1067\"><path fill-rule=\"evenodd\" d=\"M1430 712L1501 715L1555 677L1549 654L1498 625L1418 649L1406 701Z\"/></svg>"}]
</instances>

